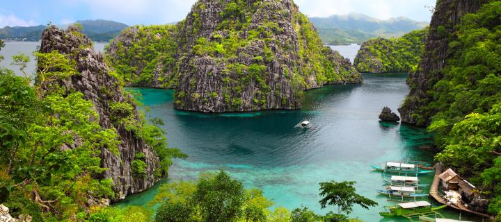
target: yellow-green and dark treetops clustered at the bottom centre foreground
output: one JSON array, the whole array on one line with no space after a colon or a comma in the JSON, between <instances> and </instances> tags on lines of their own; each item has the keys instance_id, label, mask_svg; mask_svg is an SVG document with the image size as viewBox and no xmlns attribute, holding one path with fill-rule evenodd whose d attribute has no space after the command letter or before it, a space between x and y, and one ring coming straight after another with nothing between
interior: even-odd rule
<instances>
[{"instance_id":1,"label":"yellow-green and dark treetops clustered at the bottom centre foreground","mask_svg":"<svg viewBox=\"0 0 501 222\"><path fill-rule=\"evenodd\" d=\"M227 173L204 173L198 182L162 185L150 205L161 204L156 221L289 221L284 207L271 212L273 203L259 189L244 190Z\"/></svg>"}]
</instances>

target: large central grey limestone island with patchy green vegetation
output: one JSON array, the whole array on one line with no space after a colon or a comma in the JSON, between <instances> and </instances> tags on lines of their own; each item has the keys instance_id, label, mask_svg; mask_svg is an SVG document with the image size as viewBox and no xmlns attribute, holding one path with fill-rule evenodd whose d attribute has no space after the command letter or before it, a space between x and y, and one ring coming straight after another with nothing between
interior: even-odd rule
<instances>
[{"instance_id":1,"label":"large central grey limestone island with patchy green vegetation","mask_svg":"<svg viewBox=\"0 0 501 222\"><path fill-rule=\"evenodd\" d=\"M176 89L179 110L293 110L305 89L362 81L292 0L200 0L177 30L164 86Z\"/></svg>"}]
</instances>

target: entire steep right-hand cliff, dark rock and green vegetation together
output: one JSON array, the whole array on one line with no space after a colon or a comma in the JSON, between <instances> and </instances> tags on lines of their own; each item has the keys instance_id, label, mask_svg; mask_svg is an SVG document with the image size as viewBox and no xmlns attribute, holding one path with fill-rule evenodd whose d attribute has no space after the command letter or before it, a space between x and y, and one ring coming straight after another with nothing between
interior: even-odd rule
<instances>
[{"instance_id":1,"label":"entire steep right-hand cliff, dark rock and green vegetation together","mask_svg":"<svg viewBox=\"0 0 501 222\"><path fill-rule=\"evenodd\" d=\"M449 16L454 3L439 1L434 17ZM454 2L454 1L453 1ZM425 126L436 134L442 151L436 156L461 176L470 178L482 192L475 204L490 199L488 212L501 214L501 1L472 4L481 8L466 14L456 26L434 24L430 36L444 38L447 53L439 47L427 51L427 63L411 75L411 95L401 112L406 121ZM457 6L457 5L456 5ZM462 4L466 8L468 4ZM472 8L469 8L470 10ZM433 22L432 22L433 24ZM447 31L450 30L450 31ZM428 48L427 48L428 49ZM445 55L443 60L430 55ZM436 65L427 65L435 62ZM433 69L433 71L429 71ZM423 79L422 70L428 78ZM427 83L426 85L420 85ZM412 92L416 92L413 93ZM411 113L407 113L413 108ZM431 119L429 119L431 117ZM486 210L486 209L484 209ZM498 217L498 220L499 217Z\"/></svg>"}]
</instances>

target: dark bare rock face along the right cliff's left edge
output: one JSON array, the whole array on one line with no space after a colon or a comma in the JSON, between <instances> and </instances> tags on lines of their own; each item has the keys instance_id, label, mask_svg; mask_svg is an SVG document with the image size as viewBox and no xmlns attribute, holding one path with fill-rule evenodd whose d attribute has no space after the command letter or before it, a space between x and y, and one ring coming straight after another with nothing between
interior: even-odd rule
<instances>
[{"instance_id":1,"label":"dark bare rock face along the right cliff's left edge","mask_svg":"<svg viewBox=\"0 0 501 222\"><path fill-rule=\"evenodd\" d=\"M406 101L399 108L404 123L417 126L427 126L436 110L427 109L432 102L431 89L435 83L443 78L442 69L450 54L448 53L451 41L448 33L454 32L463 15L477 12L481 6L479 0L439 0L429 28L429 35L425 44L424 54L417 67L411 74L408 84L411 92Z\"/></svg>"}]
</instances>

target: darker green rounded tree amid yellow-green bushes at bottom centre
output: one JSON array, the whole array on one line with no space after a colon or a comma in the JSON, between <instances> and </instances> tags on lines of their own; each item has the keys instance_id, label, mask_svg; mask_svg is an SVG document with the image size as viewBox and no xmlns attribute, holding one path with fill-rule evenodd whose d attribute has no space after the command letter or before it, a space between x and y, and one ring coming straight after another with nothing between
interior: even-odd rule
<instances>
[{"instance_id":1,"label":"darker green rounded tree amid yellow-green bushes at bottom centre","mask_svg":"<svg viewBox=\"0 0 501 222\"><path fill-rule=\"evenodd\" d=\"M242 213L244 186L224 171L216 176L202 176L194 200L200 203L203 221L234 221Z\"/></svg>"}]
</instances>

